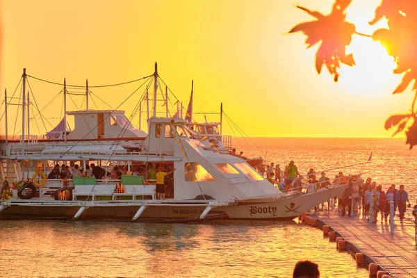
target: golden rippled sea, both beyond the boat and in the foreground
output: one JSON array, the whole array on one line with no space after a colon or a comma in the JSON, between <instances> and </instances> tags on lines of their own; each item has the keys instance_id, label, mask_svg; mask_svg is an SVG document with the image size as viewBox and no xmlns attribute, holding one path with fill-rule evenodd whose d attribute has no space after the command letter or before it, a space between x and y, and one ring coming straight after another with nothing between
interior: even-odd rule
<instances>
[{"instance_id":1,"label":"golden rippled sea, both beyond the boat and in the foreground","mask_svg":"<svg viewBox=\"0 0 417 278\"><path fill-rule=\"evenodd\" d=\"M253 141L253 142L252 142ZM406 185L416 199L417 149L404 140L239 138L238 151L265 156L300 172L343 168L369 171L384 186ZM328 172L331 176L340 169ZM1 221L1 277L291 277L299 260L318 263L320 277L368 277L350 254L337 252L322 232L291 222Z\"/></svg>"}]
</instances>

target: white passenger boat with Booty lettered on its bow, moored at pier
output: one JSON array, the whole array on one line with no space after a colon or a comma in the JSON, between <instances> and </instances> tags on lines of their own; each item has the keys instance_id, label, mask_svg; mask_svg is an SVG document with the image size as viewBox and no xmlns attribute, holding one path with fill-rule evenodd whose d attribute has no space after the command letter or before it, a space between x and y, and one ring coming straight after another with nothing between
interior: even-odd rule
<instances>
[{"instance_id":1,"label":"white passenger boat with Booty lettered on its bow, moored at pier","mask_svg":"<svg viewBox=\"0 0 417 278\"><path fill-rule=\"evenodd\" d=\"M24 85L26 72L23 77ZM156 67L153 77L157 99ZM147 120L148 133L133 128L124 111L92 111L86 107L85 111L65 109L65 121L66 115L74 116L74 130L68 132L64 122L64 132L58 131L63 136L58 138L22 134L19 140L9 140L6 134L0 145L1 179L10 186L25 182L21 188L12 189L10 199L3 195L6 198L0 203L0 219L291 220L347 186L346 180L311 193L304 186L282 193L247 161L230 155L227 148L205 144L186 120L156 117L156 101L154 115ZM25 130L25 116L22 118ZM85 169L91 161L108 171L111 163L126 167L128 173L139 165L144 167L145 175L46 179L56 162L77 163ZM168 184L172 194L167 199L156 199L158 187L154 179L146 177L149 163L174 169L173 183Z\"/></svg>"}]
</instances>

